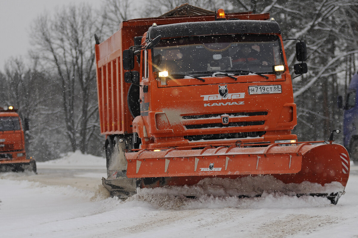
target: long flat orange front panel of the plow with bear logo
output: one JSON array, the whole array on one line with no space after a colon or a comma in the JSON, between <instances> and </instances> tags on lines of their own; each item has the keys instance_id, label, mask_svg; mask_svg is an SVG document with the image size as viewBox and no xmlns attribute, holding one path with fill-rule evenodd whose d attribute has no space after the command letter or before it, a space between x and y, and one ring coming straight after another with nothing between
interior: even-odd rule
<instances>
[{"instance_id":1,"label":"long flat orange front panel of the plow with bear logo","mask_svg":"<svg viewBox=\"0 0 358 238\"><path fill-rule=\"evenodd\" d=\"M129 178L297 173L302 162L299 150L287 151L278 145L209 146L202 150L169 149L125 155Z\"/></svg>"}]
</instances>

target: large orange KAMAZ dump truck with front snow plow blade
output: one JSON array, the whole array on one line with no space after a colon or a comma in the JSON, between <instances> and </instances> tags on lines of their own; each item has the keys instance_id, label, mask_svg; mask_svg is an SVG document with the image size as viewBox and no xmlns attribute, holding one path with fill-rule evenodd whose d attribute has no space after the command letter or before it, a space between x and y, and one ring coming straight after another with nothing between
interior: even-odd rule
<instances>
[{"instance_id":1,"label":"large orange KAMAZ dump truck with front snow plow blade","mask_svg":"<svg viewBox=\"0 0 358 238\"><path fill-rule=\"evenodd\" d=\"M134 19L101 43L95 38L102 184L113 196L257 176L334 204L344 193L347 150L332 138L297 142L291 134L291 75L280 27L268 13ZM302 62L295 72L307 72L304 42L296 55Z\"/></svg>"}]
</instances>

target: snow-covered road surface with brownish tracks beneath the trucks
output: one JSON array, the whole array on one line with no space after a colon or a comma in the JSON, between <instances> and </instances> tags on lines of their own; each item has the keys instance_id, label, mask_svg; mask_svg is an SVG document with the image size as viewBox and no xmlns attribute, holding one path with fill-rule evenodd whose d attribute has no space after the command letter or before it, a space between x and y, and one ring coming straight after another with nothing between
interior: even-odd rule
<instances>
[{"instance_id":1,"label":"snow-covered road surface with brownish tracks beneath the trucks","mask_svg":"<svg viewBox=\"0 0 358 238\"><path fill-rule=\"evenodd\" d=\"M358 237L358 166L328 199L143 193L123 202L100 185L105 159L74 153L38 174L0 174L0 237ZM174 194L174 195L173 195Z\"/></svg>"}]
</instances>

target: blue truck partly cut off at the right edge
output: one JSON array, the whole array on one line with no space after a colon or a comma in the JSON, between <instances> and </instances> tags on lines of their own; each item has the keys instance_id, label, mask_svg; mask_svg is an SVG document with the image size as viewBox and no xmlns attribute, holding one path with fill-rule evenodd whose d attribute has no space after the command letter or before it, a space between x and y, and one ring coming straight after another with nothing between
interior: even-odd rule
<instances>
[{"instance_id":1,"label":"blue truck partly cut off at the right edge","mask_svg":"<svg viewBox=\"0 0 358 238\"><path fill-rule=\"evenodd\" d=\"M350 81L347 97L343 101L338 96L338 107L344 109L343 118L343 146L347 148L350 159L358 164L358 73Z\"/></svg>"}]
</instances>

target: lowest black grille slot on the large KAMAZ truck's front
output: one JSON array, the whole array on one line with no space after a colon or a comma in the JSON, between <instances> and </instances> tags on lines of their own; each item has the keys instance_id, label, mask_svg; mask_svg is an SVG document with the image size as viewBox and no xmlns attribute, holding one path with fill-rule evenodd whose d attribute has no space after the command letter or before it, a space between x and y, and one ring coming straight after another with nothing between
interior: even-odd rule
<instances>
[{"instance_id":1,"label":"lowest black grille slot on the large KAMAZ truck's front","mask_svg":"<svg viewBox=\"0 0 358 238\"><path fill-rule=\"evenodd\" d=\"M184 136L184 138L189 141L242 139L247 137L261 137L265 135L265 133L266 131L250 131L250 132L222 133L222 134L209 134L209 135L191 135L191 136Z\"/></svg>"}]
</instances>

